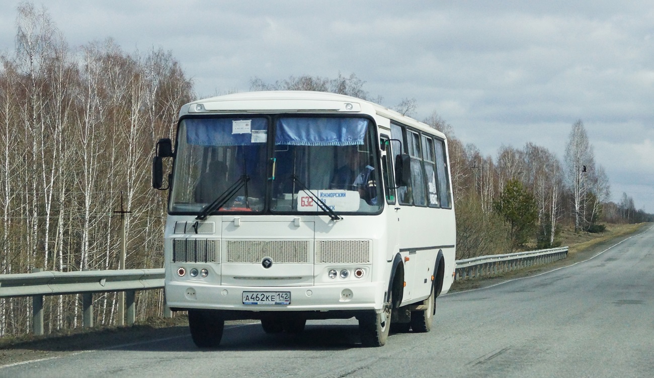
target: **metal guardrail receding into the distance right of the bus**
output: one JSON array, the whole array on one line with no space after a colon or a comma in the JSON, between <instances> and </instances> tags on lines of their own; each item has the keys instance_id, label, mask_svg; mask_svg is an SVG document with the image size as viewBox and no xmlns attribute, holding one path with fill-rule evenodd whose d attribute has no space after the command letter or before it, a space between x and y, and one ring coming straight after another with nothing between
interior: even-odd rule
<instances>
[{"instance_id":1,"label":"metal guardrail receding into the distance right of the bus","mask_svg":"<svg viewBox=\"0 0 654 378\"><path fill-rule=\"evenodd\" d=\"M538 264L549 264L568 256L568 247L530 250L508 254L490 254L456 260L455 280L494 275Z\"/></svg>"}]
</instances>

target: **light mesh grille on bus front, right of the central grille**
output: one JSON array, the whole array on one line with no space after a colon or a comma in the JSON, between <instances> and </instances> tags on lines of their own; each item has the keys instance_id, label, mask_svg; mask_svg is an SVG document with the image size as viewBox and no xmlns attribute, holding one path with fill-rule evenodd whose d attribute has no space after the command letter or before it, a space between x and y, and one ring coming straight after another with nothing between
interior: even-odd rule
<instances>
[{"instance_id":1,"label":"light mesh grille on bus front, right of the central grille","mask_svg":"<svg viewBox=\"0 0 654 378\"><path fill-rule=\"evenodd\" d=\"M317 264L370 264L370 240L317 240Z\"/></svg>"}]
</instances>

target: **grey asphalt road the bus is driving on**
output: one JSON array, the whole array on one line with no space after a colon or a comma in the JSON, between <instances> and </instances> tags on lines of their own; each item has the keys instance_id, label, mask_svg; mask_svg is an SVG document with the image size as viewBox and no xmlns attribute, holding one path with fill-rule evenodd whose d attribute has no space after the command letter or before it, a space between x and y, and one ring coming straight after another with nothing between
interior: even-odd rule
<instances>
[{"instance_id":1,"label":"grey asphalt road the bus is driving on","mask_svg":"<svg viewBox=\"0 0 654 378\"><path fill-rule=\"evenodd\" d=\"M356 322L304 334L226 328L218 350L187 332L0 368L0 377L654 377L654 229L591 260L441 296L429 334L360 347Z\"/></svg>"}]
</instances>

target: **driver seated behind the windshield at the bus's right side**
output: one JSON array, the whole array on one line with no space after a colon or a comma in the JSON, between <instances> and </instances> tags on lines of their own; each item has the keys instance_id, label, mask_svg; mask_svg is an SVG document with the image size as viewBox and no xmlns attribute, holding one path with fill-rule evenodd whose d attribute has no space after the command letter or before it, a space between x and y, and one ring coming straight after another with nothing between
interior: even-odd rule
<instances>
[{"instance_id":1,"label":"driver seated behind the windshield at the bus's right side","mask_svg":"<svg viewBox=\"0 0 654 378\"><path fill-rule=\"evenodd\" d=\"M360 159L357 146L345 146L338 150L340 166L334 172L332 188L356 190L360 198L368 205L377 205L377 184L375 182L374 170L371 165L364 165Z\"/></svg>"}]
</instances>

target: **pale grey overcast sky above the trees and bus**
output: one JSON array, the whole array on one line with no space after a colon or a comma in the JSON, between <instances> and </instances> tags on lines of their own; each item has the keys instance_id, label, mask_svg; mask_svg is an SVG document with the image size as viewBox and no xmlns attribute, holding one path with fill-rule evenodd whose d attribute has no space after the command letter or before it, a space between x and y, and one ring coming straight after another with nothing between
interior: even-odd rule
<instances>
[{"instance_id":1,"label":"pale grey overcast sky above the trees and bus","mask_svg":"<svg viewBox=\"0 0 654 378\"><path fill-rule=\"evenodd\" d=\"M171 50L199 95L290 75L354 73L415 118L437 111L464 143L545 146L562 160L583 120L611 196L654 213L654 2L34 1L71 46L112 37ZM18 1L0 2L0 51Z\"/></svg>"}]
</instances>

